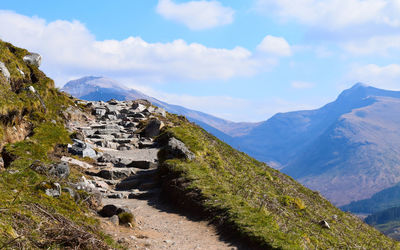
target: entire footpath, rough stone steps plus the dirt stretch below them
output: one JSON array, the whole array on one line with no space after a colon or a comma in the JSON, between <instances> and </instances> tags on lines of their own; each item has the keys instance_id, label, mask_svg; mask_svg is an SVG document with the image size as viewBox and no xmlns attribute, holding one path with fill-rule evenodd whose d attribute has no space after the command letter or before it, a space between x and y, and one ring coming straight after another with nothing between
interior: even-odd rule
<instances>
[{"instance_id":1,"label":"entire footpath, rough stone steps plus the dirt stretch below them","mask_svg":"<svg viewBox=\"0 0 400 250\"><path fill-rule=\"evenodd\" d=\"M136 218L133 230L107 219L103 230L132 249L236 249L221 241L206 222L191 221L160 202L159 148L153 138L164 126L163 109L143 100L79 104L90 108L94 116L86 124L69 124L76 132L69 152L95 160L93 166L81 163L92 176L91 180L83 178L81 188L100 192L103 205L123 207ZM172 143L184 147L177 140ZM80 163L75 160L75 164Z\"/></svg>"}]
</instances>

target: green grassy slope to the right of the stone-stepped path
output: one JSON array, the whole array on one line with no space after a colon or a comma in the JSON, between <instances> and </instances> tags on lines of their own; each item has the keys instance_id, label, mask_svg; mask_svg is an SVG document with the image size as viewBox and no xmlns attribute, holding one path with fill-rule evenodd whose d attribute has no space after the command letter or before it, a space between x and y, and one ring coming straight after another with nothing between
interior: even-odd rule
<instances>
[{"instance_id":1,"label":"green grassy slope to the right of the stone-stepped path","mask_svg":"<svg viewBox=\"0 0 400 250\"><path fill-rule=\"evenodd\" d=\"M196 155L191 162L161 159L164 183L175 187L170 195L181 196L182 204L201 207L214 222L254 245L277 249L400 248L317 192L232 149L186 119L170 116L169 121L174 125L160 138L176 137ZM322 228L321 220L331 229Z\"/></svg>"}]
</instances>

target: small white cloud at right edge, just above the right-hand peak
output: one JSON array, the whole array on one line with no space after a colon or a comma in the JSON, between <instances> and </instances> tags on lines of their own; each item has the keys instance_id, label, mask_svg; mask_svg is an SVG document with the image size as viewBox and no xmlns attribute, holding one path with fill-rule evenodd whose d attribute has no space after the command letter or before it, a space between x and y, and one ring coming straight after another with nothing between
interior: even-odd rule
<instances>
[{"instance_id":1,"label":"small white cloud at right edge, just above the right-hand peak","mask_svg":"<svg viewBox=\"0 0 400 250\"><path fill-rule=\"evenodd\" d=\"M393 51L400 51L400 36L374 36L368 39L349 41L342 47L355 55L391 55Z\"/></svg>"}]
</instances>

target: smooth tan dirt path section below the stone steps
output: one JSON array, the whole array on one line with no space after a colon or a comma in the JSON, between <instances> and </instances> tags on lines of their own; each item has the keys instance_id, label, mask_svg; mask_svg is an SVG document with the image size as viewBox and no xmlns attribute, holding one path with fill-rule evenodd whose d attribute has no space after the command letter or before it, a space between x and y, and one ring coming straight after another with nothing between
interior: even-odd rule
<instances>
[{"instance_id":1,"label":"smooth tan dirt path section below the stone steps","mask_svg":"<svg viewBox=\"0 0 400 250\"><path fill-rule=\"evenodd\" d=\"M104 227L107 233L133 249L237 249L222 241L213 226L174 213L171 207L159 204L156 198L149 201L104 199L103 203L126 206L135 214L136 229Z\"/></svg>"}]
</instances>

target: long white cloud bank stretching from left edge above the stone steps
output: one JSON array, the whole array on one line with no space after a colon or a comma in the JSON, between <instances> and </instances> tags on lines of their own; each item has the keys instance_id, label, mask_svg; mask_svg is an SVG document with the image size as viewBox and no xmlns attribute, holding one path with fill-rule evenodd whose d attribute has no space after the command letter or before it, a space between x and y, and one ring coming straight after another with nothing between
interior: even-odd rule
<instances>
[{"instance_id":1,"label":"long white cloud bank stretching from left edge above the stone steps","mask_svg":"<svg viewBox=\"0 0 400 250\"><path fill-rule=\"evenodd\" d=\"M63 84L79 75L108 75L133 82L197 81L251 76L277 61L243 47L209 48L184 40L149 43L140 37L98 41L79 21L47 23L0 11L0 37L43 55L42 69Z\"/></svg>"}]
</instances>

